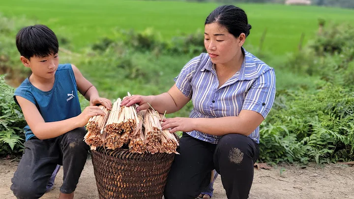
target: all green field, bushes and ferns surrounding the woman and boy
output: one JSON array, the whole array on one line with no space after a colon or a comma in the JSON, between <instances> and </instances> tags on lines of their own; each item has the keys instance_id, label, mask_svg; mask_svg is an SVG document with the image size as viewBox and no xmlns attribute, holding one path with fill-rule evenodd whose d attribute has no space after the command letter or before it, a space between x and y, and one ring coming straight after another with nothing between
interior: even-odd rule
<instances>
[{"instance_id":1,"label":"all green field, bushes and ferns surrounding the woman and boy","mask_svg":"<svg viewBox=\"0 0 354 199\"><path fill-rule=\"evenodd\" d=\"M0 17L0 69L7 73L12 71L11 79L24 78L28 74L29 70L18 60L14 35L20 27L34 23L16 15L32 12L29 17L35 14L35 22L48 24L59 36L60 47L64 49L59 53L60 63L78 66L100 94L112 100L124 97L126 92L155 95L167 91L184 64L204 51L201 32L204 19L216 6L213 3L165 1L102 1L98 6L93 1L86 1L82 6L69 6L79 5L79 2L62 1L43 2L48 10L38 12L36 2L39 0L23 1L23 9L5 3L5 7L13 9L5 11L10 17ZM188 6L182 6L186 4ZM125 9L118 5L124 5ZM170 9L165 9L167 5ZM157 7L160 9L155 9ZM353 160L354 28L350 25L353 11L261 4L244 4L243 7L254 21L250 21L254 29L246 50L274 67L277 78L274 106L261 125L259 161L321 164ZM179 14L178 9L193 12ZM57 14L56 20L48 17L53 10L58 11L51 14ZM75 20L82 21L66 21L68 13L80 15ZM145 16L142 13L149 13L151 19L138 17ZM172 13L172 21L178 20L178 26L168 24L167 17L161 17L170 16L166 13ZM290 16L290 13L294 15ZM178 18L179 15L182 18ZM123 16L126 19L120 20ZM320 17L348 23L327 23L327 28L317 34ZM123 22L126 25L122 25ZM115 29L116 26L119 29ZM199 26L201 31L198 32ZM264 48L259 51L258 40L265 27L268 32ZM302 32L307 38L312 35L312 39L298 50ZM23 148L23 116L12 100L13 88L5 85L2 79L0 83L1 91L3 88L5 91L0 96L0 156L18 154ZM82 97L81 103L82 108L88 105ZM181 111L167 117L187 117L191 108L192 103L188 103Z\"/></svg>"}]
</instances>

